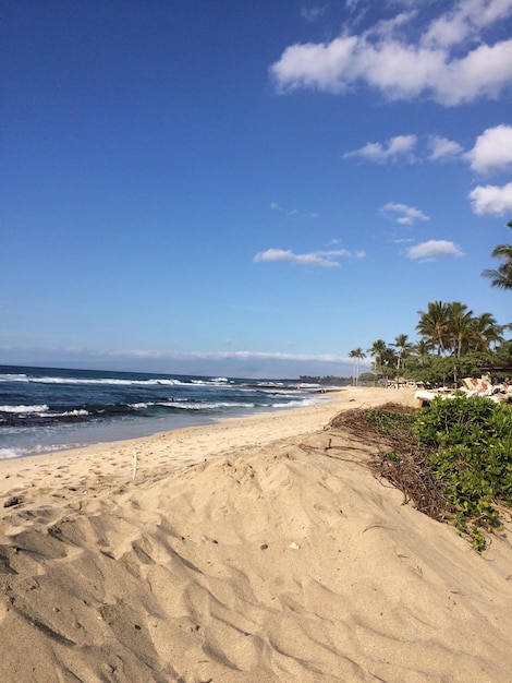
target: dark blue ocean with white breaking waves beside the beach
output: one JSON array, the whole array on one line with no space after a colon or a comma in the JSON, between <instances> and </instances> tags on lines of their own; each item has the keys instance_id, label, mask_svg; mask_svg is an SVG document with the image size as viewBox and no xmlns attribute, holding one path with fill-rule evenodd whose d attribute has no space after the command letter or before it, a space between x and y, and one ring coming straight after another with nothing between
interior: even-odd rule
<instances>
[{"instance_id":1,"label":"dark blue ocean with white breaking waves beside the beach","mask_svg":"<svg viewBox=\"0 0 512 683\"><path fill-rule=\"evenodd\" d=\"M325 400L297 381L0 366L0 459Z\"/></svg>"}]
</instances>

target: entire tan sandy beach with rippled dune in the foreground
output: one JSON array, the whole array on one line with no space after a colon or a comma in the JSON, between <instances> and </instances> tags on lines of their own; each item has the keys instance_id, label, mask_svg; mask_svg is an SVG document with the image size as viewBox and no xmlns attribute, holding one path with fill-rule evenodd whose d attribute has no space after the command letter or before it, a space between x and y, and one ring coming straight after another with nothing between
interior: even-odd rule
<instances>
[{"instance_id":1,"label":"entire tan sandy beach with rippled dune in the foreground","mask_svg":"<svg viewBox=\"0 0 512 683\"><path fill-rule=\"evenodd\" d=\"M326 429L413 391L328 398L1 462L0 681L510 681L512 548Z\"/></svg>"}]
</instances>

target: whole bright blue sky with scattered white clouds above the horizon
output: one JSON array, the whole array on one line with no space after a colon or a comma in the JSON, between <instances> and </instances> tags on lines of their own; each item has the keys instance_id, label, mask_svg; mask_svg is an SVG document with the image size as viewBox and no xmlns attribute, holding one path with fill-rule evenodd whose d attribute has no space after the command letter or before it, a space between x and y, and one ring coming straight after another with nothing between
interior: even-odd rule
<instances>
[{"instance_id":1,"label":"whole bright blue sky with scattered white clouds above the horizon","mask_svg":"<svg viewBox=\"0 0 512 683\"><path fill-rule=\"evenodd\" d=\"M512 0L1 1L0 363L350 375L511 320Z\"/></svg>"}]
</instances>

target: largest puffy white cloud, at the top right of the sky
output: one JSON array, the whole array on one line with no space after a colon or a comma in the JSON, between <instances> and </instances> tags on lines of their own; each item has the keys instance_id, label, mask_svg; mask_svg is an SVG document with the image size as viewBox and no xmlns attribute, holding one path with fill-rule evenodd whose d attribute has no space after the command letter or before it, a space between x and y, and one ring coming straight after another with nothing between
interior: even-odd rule
<instances>
[{"instance_id":1,"label":"largest puffy white cloud, at the top right of the sky","mask_svg":"<svg viewBox=\"0 0 512 683\"><path fill-rule=\"evenodd\" d=\"M359 35L289 46L269 71L280 93L342 94L363 83L388 99L422 95L454 106L495 98L512 84L512 39L487 45L481 31L511 14L512 0L464 0L431 22L419 41L403 36L420 13L398 14Z\"/></svg>"}]
</instances>

